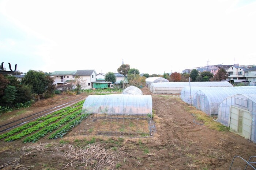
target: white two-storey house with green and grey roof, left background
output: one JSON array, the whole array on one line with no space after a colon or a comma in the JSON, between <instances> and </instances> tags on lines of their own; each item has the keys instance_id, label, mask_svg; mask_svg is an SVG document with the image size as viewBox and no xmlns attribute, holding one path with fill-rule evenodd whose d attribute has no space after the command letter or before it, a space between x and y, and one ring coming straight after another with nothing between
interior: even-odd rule
<instances>
[{"instance_id":1,"label":"white two-storey house with green and grey roof, left background","mask_svg":"<svg viewBox=\"0 0 256 170\"><path fill-rule=\"evenodd\" d=\"M76 70L76 71L54 71L51 76L53 78L53 84L71 84L77 78L84 80L85 87L83 89L92 88L91 82L96 81L95 70Z\"/></svg>"}]
</instances>

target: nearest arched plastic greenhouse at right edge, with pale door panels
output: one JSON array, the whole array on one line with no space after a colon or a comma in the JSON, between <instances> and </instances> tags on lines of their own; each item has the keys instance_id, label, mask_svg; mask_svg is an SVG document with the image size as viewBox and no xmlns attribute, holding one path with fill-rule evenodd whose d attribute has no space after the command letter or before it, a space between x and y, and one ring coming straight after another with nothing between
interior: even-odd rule
<instances>
[{"instance_id":1,"label":"nearest arched plastic greenhouse at right edge, with pale door panels","mask_svg":"<svg viewBox=\"0 0 256 170\"><path fill-rule=\"evenodd\" d=\"M217 121L256 143L256 94L237 94L223 100Z\"/></svg>"}]
</instances>

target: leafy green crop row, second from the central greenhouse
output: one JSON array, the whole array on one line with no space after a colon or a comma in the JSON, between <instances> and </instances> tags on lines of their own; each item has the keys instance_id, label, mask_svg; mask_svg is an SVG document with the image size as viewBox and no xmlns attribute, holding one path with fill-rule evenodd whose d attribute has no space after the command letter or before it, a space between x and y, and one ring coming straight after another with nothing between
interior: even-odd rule
<instances>
[{"instance_id":1,"label":"leafy green crop row, second from the central greenhouse","mask_svg":"<svg viewBox=\"0 0 256 170\"><path fill-rule=\"evenodd\" d=\"M35 142L38 141L38 139L44 137L48 133L52 133L52 131L58 129L63 124L66 124L67 122L70 122L71 120L75 119L77 115L81 114L81 110L78 110L74 112L71 115L66 116L65 118L61 119L59 122L52 123L49 126L44 127L42 130L38 131L37 133L30 135L29 137L26 137L23 142Z\"/></svg>"}]
</instances>

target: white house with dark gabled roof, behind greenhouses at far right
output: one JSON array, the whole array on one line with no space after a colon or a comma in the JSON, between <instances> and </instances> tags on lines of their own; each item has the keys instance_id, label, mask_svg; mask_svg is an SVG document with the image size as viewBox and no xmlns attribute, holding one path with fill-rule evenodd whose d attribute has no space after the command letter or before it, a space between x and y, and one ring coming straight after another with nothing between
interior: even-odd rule
<instances>
[{"instance_id":1,"label":"white house with dark gabled roof, behind greenhouses at far right","mask_svg":"<svg viewBox=\"0 0 256 170\"><path fill-rule=\"evenodd\" d=\"M245 80L245 71L246 68L240 67L239 64L234 64L226 70L228 74L228 80Z\"/></svg>"}]
</instances>

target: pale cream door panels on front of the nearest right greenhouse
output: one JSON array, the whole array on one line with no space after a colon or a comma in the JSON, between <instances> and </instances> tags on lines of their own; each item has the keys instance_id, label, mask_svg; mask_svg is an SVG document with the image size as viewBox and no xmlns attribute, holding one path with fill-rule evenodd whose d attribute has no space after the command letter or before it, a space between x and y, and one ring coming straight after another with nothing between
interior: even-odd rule
<instances>
[{"instance_id":1,"label":"pale cream door panels on front of the nearest right greenhouse","mask_svg":"<svg viewBox=\"0 0 256 170\"><path fill-rule=\"evenodd\" d=\"M252 116L248 110L231 106L230 108L230 131L234 131L250 139L251 136Z\"/></svg>"}]
</instances>

